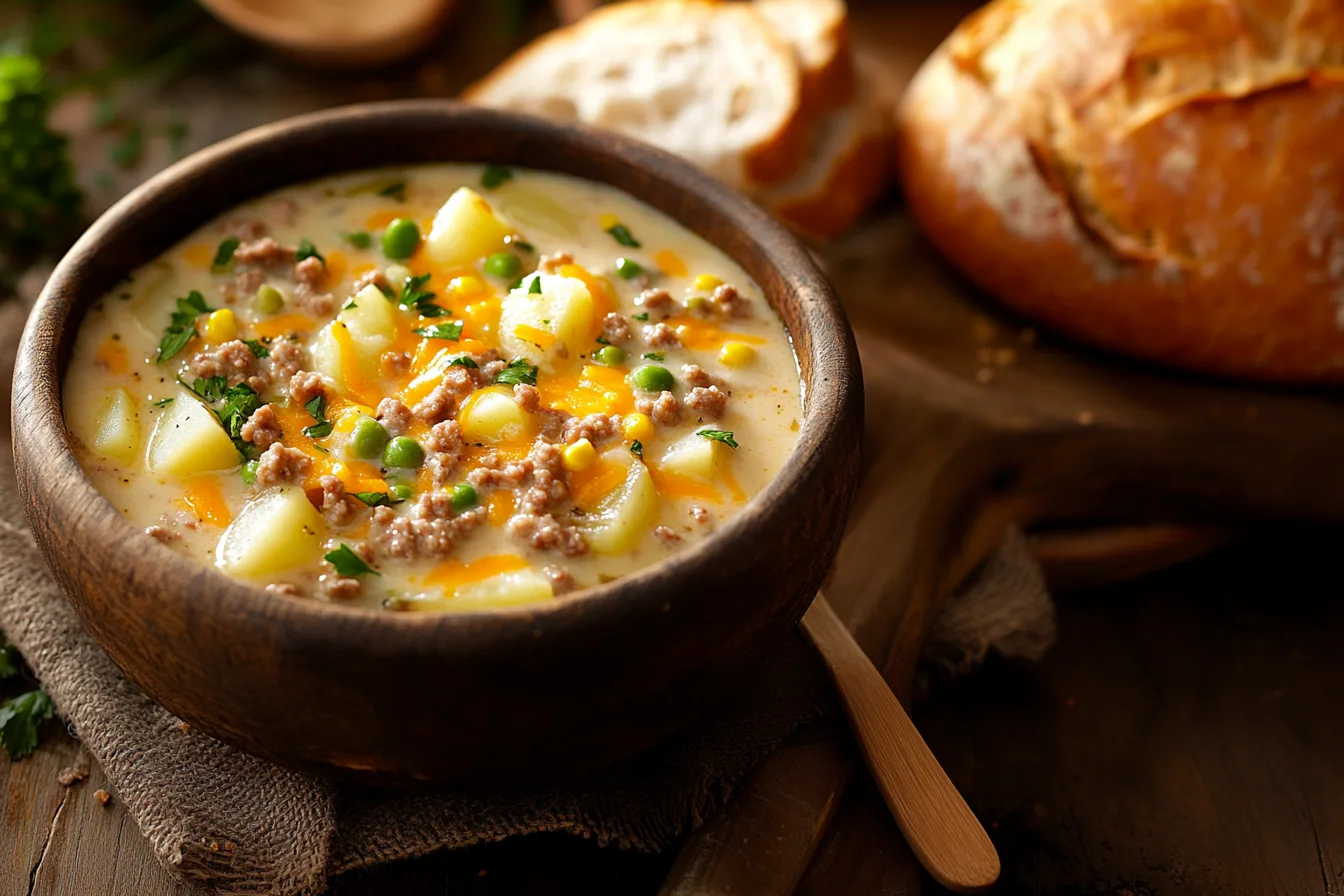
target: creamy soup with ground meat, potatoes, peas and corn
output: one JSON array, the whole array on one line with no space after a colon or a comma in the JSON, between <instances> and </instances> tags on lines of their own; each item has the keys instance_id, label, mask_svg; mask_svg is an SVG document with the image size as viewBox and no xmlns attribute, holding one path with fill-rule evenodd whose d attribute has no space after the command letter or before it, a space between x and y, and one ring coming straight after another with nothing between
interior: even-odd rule
<instances>
[{"instance_id":1,"label":"creamy soup with ground meat, potatoes, peas and corn","mask_svg":"<svg viewBox=\"0 0 1344 896\"><path fill-rule=\"evenodd\" d=\"M761 289L609 187L426 165L292 187L141 267L65 383L98 489L285 595L548 600L707 537L780 469Z\"/></svg>"}]
</instances>

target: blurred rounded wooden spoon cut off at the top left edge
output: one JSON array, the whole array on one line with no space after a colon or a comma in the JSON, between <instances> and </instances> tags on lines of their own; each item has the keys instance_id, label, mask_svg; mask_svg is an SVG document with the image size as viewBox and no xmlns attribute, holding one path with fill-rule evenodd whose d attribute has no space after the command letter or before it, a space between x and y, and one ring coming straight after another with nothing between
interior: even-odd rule
<instances>
[{"instance_id":1,"label":"blurred rounded wooden spoon cut off at the top left edge","mask_svg":"<svg viewBox=\"0 0 1344 896\"><path fill-rule=\"evenodd\" d=\"M376 66L425 46L453 0L200 0L215 17L304 62Z\"/></svg>"}]
</instances>

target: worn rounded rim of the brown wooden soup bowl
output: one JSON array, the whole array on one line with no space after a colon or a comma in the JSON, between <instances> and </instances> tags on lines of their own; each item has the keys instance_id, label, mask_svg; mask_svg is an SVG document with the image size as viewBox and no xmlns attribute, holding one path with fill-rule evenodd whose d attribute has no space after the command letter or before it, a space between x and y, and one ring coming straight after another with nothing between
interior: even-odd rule
<instances>
[{"instance_id":1,"label":"worn rounded rim of the brown wooden soup bowl","mask_svg":"<svg viewBox=\"0 0 1344 896\"><path fill-rule=\"evenodd\" d=\"M117 228L129 226L134 211L146 199L167 189L191 189L191 181L208 177L212 168L233 154L246 153L270 142L285 144L286 141L297 141L300 137L310 136L313 132L329 128L333 124L349 125L352 121L359 120L367 125L370 132L374 132L379 126L395 126L398 121L409 122L417 116L442 117L445 130L452 130L454 126L480 125L501 132L501 134L526 130L530 137L566 141L579 150L599 159L602 164L624 165L652 180L663 181L665 187L671 187L679 193L689 193L702 204L714 204L739 234L745 234L749 242L757 246L765 262L780 273L780 282L788 283L788 287L794 293L796 301L804 310L800 314L800 320L805 320L809 330L802 343L810 347L808 361L804 363L800 355L800 337L789 330L788 324L785 324L790 348L800 371L802 410L797 439L769 484L708 537L677 551L669 557L641 567L626 576L585 588L558 600L481 611L388 613L382 609L345 606L312 599L285 599L280 595L269 594L261 584L234 579L214 567L181 556L169 547L144 536L142 531L134 527L97 489L83 472L83 466L71 449L70 435L65 426L62 398L66 371L60 364L62 329L77 314L82 324L87 308L97 301L97 298L86 300L87 304L83 309L77 310L74 308L77 287L79 286L81 265L90 255L101 251L102 244L110 234ZM452 161L472 164L468 160ZM488 161L488 159L476 160L477 164ZM375 167L336 167L328 173L316 175L309 180L336 176L343 172L372 169ZM595 180L542 165L517 167L560 173L567 177ZM305 181L296 180L293 183ZM667 215L688 231L698 232L692 223L683 220L671 211L660 208L637 191L624 189L622 187L614 188L622 189L622 192L650 206L655 211ZM255 196L266 195L266 192L269 191L263 191ZM255 196L239 195L237 203ZM214 218L226 212L227 208L220 208L211 211L210 216ZM706 238L702 236L702 239ZM741 253L734 254L727 247L718 247L732 258L734 262L739 265L745 263ZM770 301L773 298L770 289L765 285L761 285L761 287L767 301ZM85 290L87 289L85 286ZM770 304L771 308L777 305L775 301L770 301ZM784 316L781 314L782 318ZM78 330L78 326L75 330ZM74 336L69 337L71 343L73 339ZM810 373L805 373L808 364L812 365ZM39 383L48 387L42 394L36 394L35 391ZM538 626L542 623L546 623L548 629L567 629L571 625L581 626L585 617L593 613L622 617L648 610L641 607L640 600L645 584L652 583L657 578L679 576L703 564L712 564L716 557L726 556L734 551L735 545L745 539L750 539L750 531L755 520L769 514L790 512L790 496L801 493L808 481L817 476L818 470L814 461L827 454L824 450L827 442L844 435L847 411L853 410L853 402L859 403L859 412L862 414L859 355L844 310L829 281L809 251L762 208L691 163L629 137L582 125L559 125L519 113L466 106L448 99L358 103L284 118L245 130L198 150L134 188L105 211L85 231L56 265L43 287L28 317L19 347L15 367L13 400L16 407L19 400L26 398L20 394L23 388L34 390L31 398L39 406L50 406L54 408L54 412L15 414L15 451L22 451L26 442L59 445L62 447L59 457L27 458L27 462L32 467L28 474L30 478L34 478L32 473L40 476L43 472L78 470L79 476L77 481L63 484L59 494L52 496L52 500L67 505L71 502L86 502L89 508L86 513L97 513L101 517L112 520L110 525L113 529L106 533L108 536L120 539L121 536L137 535L144 539L148 552L136 560L137 564L149 560L164 564L168 572L180 575L181 582L188 582L195 575L208 572L216 578L222 596L233 603L234 607L247 614L259 614L271 621L278 622L284 617L305 626L332 626L332 634L337 634L335 629L347 627L356 621L367 621L368 625L376 625L390 634L419 635L434 633L439 637L437 639L439 647L449 646L441 638L450 638L457 634L470 637L473 630L482 626L492 629L493 638L496 639L501 637L508 639L509 634L530 639L536 635ZM23 431L22 435L20 431ZM20 466L20 470L23 470L23 466ZM27 492L32 486L31 484L24 485L20 482L20 488ZM87 504L90 500L93 502ZM31 508L32 501L26 501L26 505ZM55 563L52 560L52 564ZM172 599L188 599L185 592L185 588L177 590ZM655 607L653 610L657 609ZM309 630L313 631L312 629ZM466 641L462 643L466 643Z\"/></svg>"}]
</instances>

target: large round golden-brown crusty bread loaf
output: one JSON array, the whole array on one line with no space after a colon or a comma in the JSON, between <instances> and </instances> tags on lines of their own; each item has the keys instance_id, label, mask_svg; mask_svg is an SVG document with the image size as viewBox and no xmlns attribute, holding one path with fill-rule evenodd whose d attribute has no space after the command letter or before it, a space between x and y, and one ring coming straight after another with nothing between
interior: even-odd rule
<instances>
[{"instance_id":1,"label":"large round golden-brown crusty bread loaf","mask_svg":"<svg viewBox=\"0 0 1344 896\"><path fill-rule=\"evenodd\" d=\"M996 0L919 70L896 161L938 249L1028 317L1344 382L1340 0Z\"/></svg>"}]
</instances>

